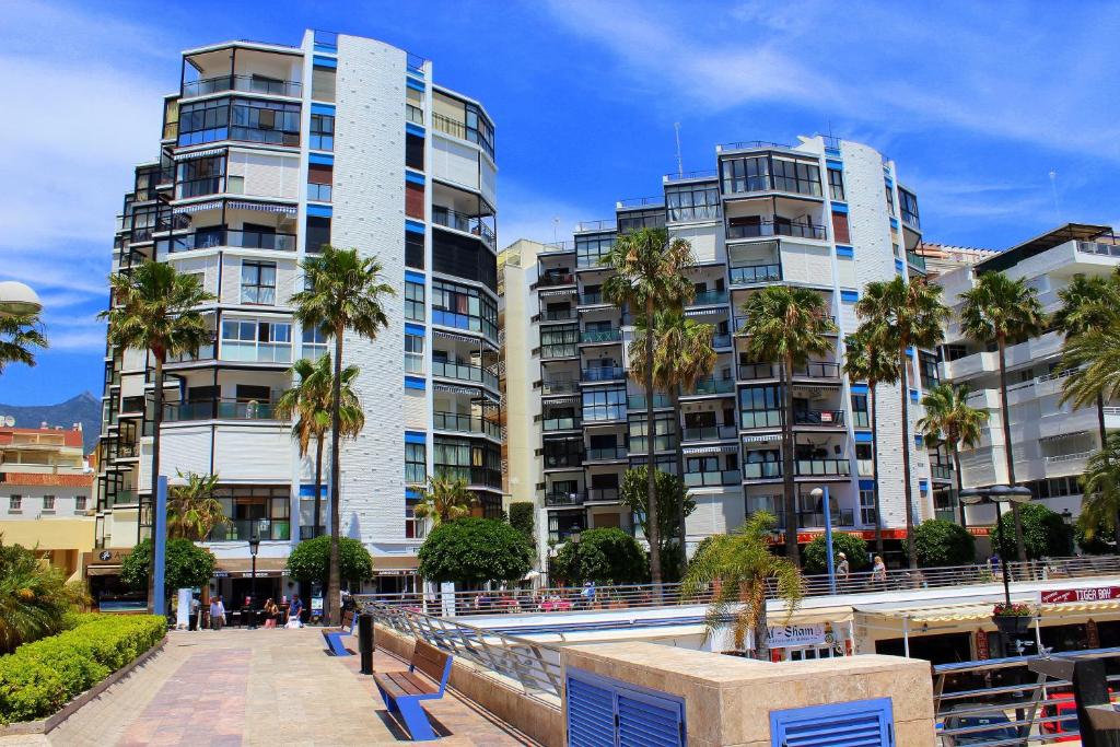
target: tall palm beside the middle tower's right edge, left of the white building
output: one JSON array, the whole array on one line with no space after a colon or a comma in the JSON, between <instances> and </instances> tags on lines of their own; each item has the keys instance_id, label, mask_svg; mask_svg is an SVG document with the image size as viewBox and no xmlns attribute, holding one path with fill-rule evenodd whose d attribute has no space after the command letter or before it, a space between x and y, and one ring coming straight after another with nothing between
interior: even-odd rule
<instances>
[{"instance_id":1,"label":"tall palm beside the middle tower's right edge, left of the white building","mask_svg":"<svg viewBox=\"0 0 1120 747\"><path fill-rule=\"evenodd\" d=\"M862 324L860 330L874 337L877 345L893 347L897 353L898 398L902 415L903 491L906 505L906 545L911 568L917 568L914 547L914 488L911 475L911 450L914 448L909 432L909 349L934 347L943 337L942 323L949 309L941 302L941 287L924 280L906 282L903 278L870 282L856 302L856 314Z\"/></svg>"}]
</instances>

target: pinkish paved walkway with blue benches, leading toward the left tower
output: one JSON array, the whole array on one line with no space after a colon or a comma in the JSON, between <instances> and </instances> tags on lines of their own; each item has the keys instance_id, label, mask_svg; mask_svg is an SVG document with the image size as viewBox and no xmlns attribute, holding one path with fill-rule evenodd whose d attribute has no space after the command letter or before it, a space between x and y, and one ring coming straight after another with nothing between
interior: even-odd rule
<instances>
[{"instance_id":1,"label":"pinkish paved walkway with blue benches, leading toward the left tower","mask_svg":"<svg viewBox=\"0 0 1120 747\"><path fill-rule=\"evenodd\" d=\"M347 645L356 650L357 638ZM49 735L0 738L0 747L408 743L358 665L358 656L329 656L315 628L170 633L161 653ZM374 669L403 665L379 650ZM450 692L424 708L441 746L531 744Z\"/></svg>"}]
</instances>

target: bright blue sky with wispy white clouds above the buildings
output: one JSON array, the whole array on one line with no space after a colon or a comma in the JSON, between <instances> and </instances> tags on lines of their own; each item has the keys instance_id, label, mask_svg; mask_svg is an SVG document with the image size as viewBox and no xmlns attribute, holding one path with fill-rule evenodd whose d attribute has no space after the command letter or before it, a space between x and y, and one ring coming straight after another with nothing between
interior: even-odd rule
<instances>
[{"instance_id":1,"label":"bright blue sky with wispy white clouds above the buildings","mask_svg":"<svg viewBox=\"0 0 1120 747\"><path fill-rule=\"evenodd\" d=\"M100 394L113 217L157 155L177 53L223 39L324 28L435 60L494 116L503 244L659 194L674 122L685 169L732 140L875 146L917 192L927 241L1120 224L1120 4L777 4L0 0L0 279L39 290L52 339L0 377L0 402Z\"/></svg>"}]
</instances>

